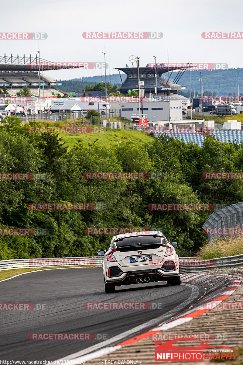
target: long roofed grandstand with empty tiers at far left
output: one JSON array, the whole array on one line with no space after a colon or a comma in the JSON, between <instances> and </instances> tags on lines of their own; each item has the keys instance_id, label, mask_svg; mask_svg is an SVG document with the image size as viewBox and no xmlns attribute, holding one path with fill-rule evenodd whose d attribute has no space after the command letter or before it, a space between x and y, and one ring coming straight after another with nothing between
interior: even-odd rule
<instances>
[{"instance_id":1,"label":"long roofed grandstand with empty tiers at far left","mask_svg":"<svg viewBox=\"0 0 243 365\"><path fill-rule=\"evenodd\" d=\"M53 64L46 59L40 58L40 65ZM30 69L31 64L39 64L37 55L32 57L17 56L0 56L0 86L5 86L8 89L8 94L15 96L23 86L27 86L33 96L39 95L39 71ZM58 89L61 84L54 78L43 74L40 66L40 81L41 81L41 97L51 97L53 95L63 95L63 91Z\"/></svg>"}]
</instances>

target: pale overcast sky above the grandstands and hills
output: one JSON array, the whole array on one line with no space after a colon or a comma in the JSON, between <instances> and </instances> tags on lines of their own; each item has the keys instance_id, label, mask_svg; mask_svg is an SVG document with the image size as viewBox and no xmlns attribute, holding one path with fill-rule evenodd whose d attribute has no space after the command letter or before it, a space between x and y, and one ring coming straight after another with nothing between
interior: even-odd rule
<instances>
[{"instance_id":1,"label":"pale overcast sky above the grandstands and hills","mask_svg":"<svg viewBox=\"0 0 243 365\"><path fill-rule=\"evenodd\" d=\"M227 63L243 67L243 39L203 39L204 31L243 32L243 1L12 0L1 1L1 32L45 32L44 40L1 39L0 55L33 55L52 62L106 62L125 67L129 56L153 62ZM162 39L84 39L85 31L160 31ZM100 75L100 70L55 70L61 79Z\"/></svg>"}]
</instances>

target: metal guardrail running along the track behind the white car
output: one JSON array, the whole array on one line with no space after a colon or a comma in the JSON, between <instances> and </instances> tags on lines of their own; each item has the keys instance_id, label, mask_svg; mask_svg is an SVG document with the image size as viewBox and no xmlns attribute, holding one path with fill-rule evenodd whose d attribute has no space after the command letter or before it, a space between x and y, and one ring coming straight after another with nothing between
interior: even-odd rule
<instances>
[{"instance_id":1,"label":"metal guardrail running along the track behind the white car","mask_svg":"<svg viewBox=\"0 0 243 365\"><path fill-rule=\"evenodd\" d=\"M94 257L25 258L0 261L0 271L24 268L48 268L62 266L101 266L103 259ZM180 257L180 273L209 270L230 270L243 268L243 255L197 260L193 257Z\"/></svg>"}]
</instances>

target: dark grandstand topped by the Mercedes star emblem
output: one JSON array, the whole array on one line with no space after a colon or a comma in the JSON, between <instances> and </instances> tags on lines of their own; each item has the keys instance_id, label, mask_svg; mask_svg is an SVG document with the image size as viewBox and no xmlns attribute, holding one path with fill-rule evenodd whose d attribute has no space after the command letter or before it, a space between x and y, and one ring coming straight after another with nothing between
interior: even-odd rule
<instances>
[{"instance_id":1,"label":"dark grandstand topped by the Mercedes star emblem","mask_svg":"<svg viewBox=\"0 0 243 365\"><path fill-rule=\"evenodd\" d=\"M186 87L181 86L177 84L177 82L180 80L180 77L184 73L184 71L187 68L185 67L178 67L176 70L179 70L179 72L176 72L176 76L173 81L169 80L172 73L168 78L162 77L162 74L165 74L166 72L174 71L175 67L169 67L169 68L158 68L155 70L155 68L149 67L147 65L146 67L140 67L140 81L144 81L144 85L141 86L141 89L144 89L144 95L145 96L151 96L151 94L155 94L154 88L156 87L156 72L157 72L157 95L158 96L165 96L165 95L171 95L171 94L177 94L178 90L183 90ZM124 72L126 74L126 79L124 82L122 82L121 87L119 88L119 91L122 94L128 93L128 90L138 89L138 69L136 67L127 67L127 68L115 68L115 70L118 70Z\"/></svg>"}]
</instances>

